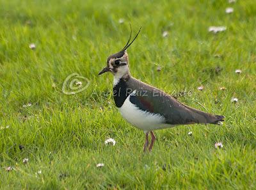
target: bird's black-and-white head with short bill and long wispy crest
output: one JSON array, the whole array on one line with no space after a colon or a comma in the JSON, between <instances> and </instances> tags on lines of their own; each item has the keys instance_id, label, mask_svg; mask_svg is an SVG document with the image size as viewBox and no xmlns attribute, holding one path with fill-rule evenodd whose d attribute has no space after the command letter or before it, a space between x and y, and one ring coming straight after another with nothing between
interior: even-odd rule
<instances>
[{"instance_id":1,"label":"bird's black-and-white head with short bill and long wispy crest","mask_svg":"<svg viewBox=\"0 0 256 190\"><path fill-rule=\"evenodd\" d=\"M137 36L140 33L140 30L138 31L137 35L132 40L132 42L134 42L134 40L137 38ZM99 72L99 75L104 74L104 72L111 72L115 76L118 75L122 77L123 75L129 73L129 60L128 60L127 48L132 44L132 42L130 43L131 37L132 37L132 29L130 32L129 40L127 41L125 47L120 52L112 54L111 56L108 57L107 66L104 67Z\"/></svg>"}]
</instances>

